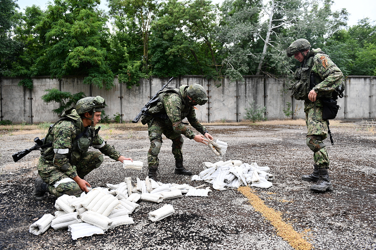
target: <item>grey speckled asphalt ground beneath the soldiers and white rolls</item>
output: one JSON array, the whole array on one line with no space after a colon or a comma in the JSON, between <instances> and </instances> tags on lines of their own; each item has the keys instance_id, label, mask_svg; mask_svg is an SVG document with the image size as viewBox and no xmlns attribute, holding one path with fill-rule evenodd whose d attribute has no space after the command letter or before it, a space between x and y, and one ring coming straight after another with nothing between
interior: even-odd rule
<instances>
[{"instance_id":1,"label":"grey speckled asphalt ground beneath the soldiers and white rolls","mask_svg":"<svg viewBox=\"0 0 376 250\"><path fill-rule=\"evenodd\" d=\"M301 180L312 171L312 151L305 144L303 121L267 121L257 124L218 123L206 126L215 139L228 143L223 160L256 162L269 166L275 180L268 189L258 187L213 190L208 197L183 196L160 204L139 202L130 215L135 224L110 229L103 235L72 240L66 230L52 228L36 236L29 226L43 214L53 214L55 199L47 195L33 201L33 183L38 177L33 151L19 162L12 153L33 145L45 130L28 126L0 127L0 249L376 249L376 126L374 121L332 121L334 146L326 139L334 190L315 193L313 183ZM104 125L100 134L126 157L147 162L149 139L145 126ZM207 146L185 139L186 168L198 174L203 162L218 159ZM162 183L211 184L174 174L171 141L164 138L159 168ZM146 166L146 164L144 165ZM125 177L144 180L143 171L124 170L120 162L105 157L102 166L86 180L92 187L117 184ZM165 204L175 214L160 222L148 213Z\"/></svg>"}]
</instances>

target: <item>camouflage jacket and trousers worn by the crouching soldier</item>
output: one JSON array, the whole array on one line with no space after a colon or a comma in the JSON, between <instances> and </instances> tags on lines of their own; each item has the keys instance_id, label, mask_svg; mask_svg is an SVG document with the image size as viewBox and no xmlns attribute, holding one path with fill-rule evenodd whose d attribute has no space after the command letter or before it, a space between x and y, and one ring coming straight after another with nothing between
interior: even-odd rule
<instances>
[{"instance_id":1,"label":"camouflage jacket and trousers worn by the crouching soldier","mask_svg":"<svg viewBox=\"0 0 376 250\"><path fill-rule=\"evenodd\" d=\"M82 193L73 180L77 175L83 179L92 170L99 168L103 162L103 154L117 160L121 154L109 146L95 131L94 127L83 127L82 118L76 109L64 112L46 138L52 147L41 150L38 162L40 177L49 184L47 192L59 197L64 194L79 195ZM83 133L79 139L77 135ZM100 152L88 151L89 146Z\"/></svg>"}]
</instances>

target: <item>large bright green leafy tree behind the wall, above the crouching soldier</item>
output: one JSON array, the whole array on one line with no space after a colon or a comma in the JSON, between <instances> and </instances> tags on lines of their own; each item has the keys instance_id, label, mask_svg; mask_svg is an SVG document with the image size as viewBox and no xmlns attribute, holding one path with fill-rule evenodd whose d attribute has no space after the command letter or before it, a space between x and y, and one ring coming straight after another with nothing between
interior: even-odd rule
<instances>
[{"instance_id":1,"label":"large bright green leafy tree behind the wall, above the crouching soldier","mask_svg":"<svg viewBox=\"0 0 376 250\"><path fill-rule=\"evenodd\" d=\"M43 53L34 67L51 77L83 75L85 84L113 87L114 73L107 61L109 45L106 16L99 0L55 0L35 30Z\"/></svg>"}]
</instances>

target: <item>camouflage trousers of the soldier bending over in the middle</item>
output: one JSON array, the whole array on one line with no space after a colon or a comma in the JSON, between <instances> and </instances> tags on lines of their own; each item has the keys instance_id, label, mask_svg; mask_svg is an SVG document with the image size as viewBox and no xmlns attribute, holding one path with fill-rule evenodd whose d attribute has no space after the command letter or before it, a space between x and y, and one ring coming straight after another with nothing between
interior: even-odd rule
<instances>
[{"instance_id":1,"label":"camouflage trousers of the soldier bending over in the middle","mask_svg":"<svg viewBox=\"0 0 376 250\"><path fill-rule=\"evenodd\" d=\"M159 120L158 118L154 118L148 122L148 132L149 132L149 139L150 139L150 149L147 153L147 163L150 166L159 166L159 159L158 153L153 150L155 144L153 143L155 140L162 141L162 134L164 134L168 139L172 141L172 154L174 155L175 159L183 159L183 152L182 152L182 145L183 145L183 138L182 135L176 133L172 126L165 124L163 121ZM154 152L154 153L153 153Z\"/></svg>"}]
</instances>

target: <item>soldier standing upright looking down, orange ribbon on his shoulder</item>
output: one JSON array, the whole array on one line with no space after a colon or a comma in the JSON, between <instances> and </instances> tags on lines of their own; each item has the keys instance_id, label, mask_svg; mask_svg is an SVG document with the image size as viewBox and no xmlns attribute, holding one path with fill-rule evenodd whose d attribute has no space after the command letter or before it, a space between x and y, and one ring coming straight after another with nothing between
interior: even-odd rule
<instances>
[{"instance_id":1,"label":"soldier standing upright looking down, orange ribbon on his shoulder","mask_svg":"<svg viewBox=\"0 0 376 250\"><path fill-rule=\"evenodd\" d=\"M327 138L327 120L323 120L323 99L331 99L335 91L342 85L341 70L321 49L310 49L306 39L298 39L287 48L287 56L301 63L294 73L297 80L291 85L293 96L304 100L304 112L308 133L306 144L314 152L314 171L303 175L302 179L314 181L312 191L332 190L329 177L329 157L323 140ZM312 74L313 73L313 74ZM312 74L312 75L311 75Z\"/></svg>"}]
</instances>

